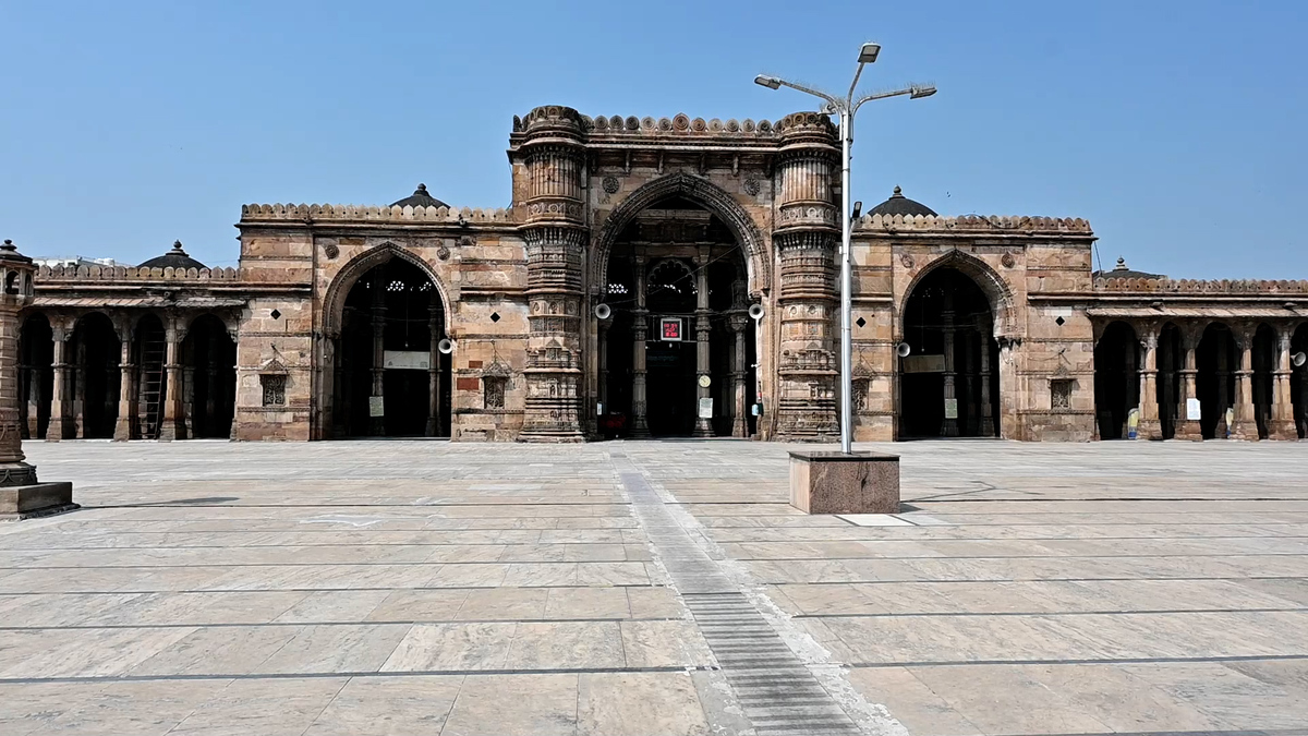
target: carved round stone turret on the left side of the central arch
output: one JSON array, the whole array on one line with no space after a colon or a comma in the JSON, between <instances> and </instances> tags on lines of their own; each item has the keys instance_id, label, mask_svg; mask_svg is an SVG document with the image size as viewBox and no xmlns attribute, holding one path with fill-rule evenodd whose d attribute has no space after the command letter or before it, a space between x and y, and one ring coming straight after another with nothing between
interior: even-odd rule
<instances>
[{"instance_id":1,"label":"carved round stone turret on the left side of the central arch","mask_svg":"<svg viewBox=\"0 0 1308 736\"><path fill-rule=\"evenodd\" d=\"M582 259L585 148L570 107L536 107L515 124L510 157L527 170L527 384L521 441L583 441Z\"/></svg>"}]
</instances>

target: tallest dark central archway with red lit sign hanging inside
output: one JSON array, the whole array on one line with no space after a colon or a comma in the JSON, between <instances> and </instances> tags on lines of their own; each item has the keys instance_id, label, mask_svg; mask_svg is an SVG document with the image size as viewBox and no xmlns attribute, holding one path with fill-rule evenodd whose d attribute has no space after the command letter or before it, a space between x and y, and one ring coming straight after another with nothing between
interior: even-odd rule
<instances>
[{"instance_id":1,"label":"tallest dark central archway with red lit sign hanging inside","mask_svg":"<svg viewBox=\"0 0 1308 736\"><path fill-rule=\"evenodd\" d=\"M623 230L607 271L606 304L612 318L604 330L604 416L599 418L606 436L748 436L756 431L749 411L756 322L744 317L747 280L735 236L689 199L659 202ZM674 333L664 334L664 321ZM705 333L706 346L701 346ZM680 339L667 339L672 334ZM706 368L700 363L701 350ZM701 402L706 411L712 409L704 419Z\"/></svg>"}]
</instances>

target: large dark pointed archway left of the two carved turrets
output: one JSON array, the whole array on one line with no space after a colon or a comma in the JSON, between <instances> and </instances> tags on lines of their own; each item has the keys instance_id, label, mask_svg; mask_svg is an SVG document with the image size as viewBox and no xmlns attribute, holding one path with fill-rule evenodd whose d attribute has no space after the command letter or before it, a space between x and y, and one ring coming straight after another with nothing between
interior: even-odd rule
<instances>
[{"instance_id":1,"label":"large dark pointed archway left of the two carved turrets","mask_svg":"<svg viewBox=\"0 0 1308 736\"><path fill-rule=\"evenodd\" d=\"M334 433L449 436L449 358L437 350L443 338L445 305L421 268L392 258L360 276L345 297L335 351Z\"/></svg>"}]
</instances>

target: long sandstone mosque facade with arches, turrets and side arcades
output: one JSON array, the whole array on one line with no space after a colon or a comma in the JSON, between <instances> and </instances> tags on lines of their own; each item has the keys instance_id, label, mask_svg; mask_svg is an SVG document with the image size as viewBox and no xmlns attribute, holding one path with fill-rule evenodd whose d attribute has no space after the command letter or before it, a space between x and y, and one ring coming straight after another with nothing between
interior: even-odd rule
<instances>
[{"instance_id":1,"label":"long sandstone mosque facade with arches, turrets and side arcades","mask_svg":"<svg viewBox=\"0 0 1308 736\"><path fill-rule=\"evenodd\" d=\"M43 265L27 437L586 441L838 433L828 118L514 118L509 208L247 204L239 266L181 244ZM443 194L442 194L443 195ZM857 440L1294 440L1308 282L1092 266L1080 219L853 224ZM31 244L17 244L30 250Z\"/></svg>"}]
</instances>

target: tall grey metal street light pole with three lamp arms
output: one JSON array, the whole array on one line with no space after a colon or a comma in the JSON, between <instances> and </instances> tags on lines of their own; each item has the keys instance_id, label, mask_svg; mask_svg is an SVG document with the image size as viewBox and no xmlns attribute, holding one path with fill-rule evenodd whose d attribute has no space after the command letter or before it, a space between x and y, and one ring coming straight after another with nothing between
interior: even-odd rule
<instances>
[{"instance_id":1,"label":"tall grey metal street light pole with three lamp arms","mask_svg":"<svg viewBox=\"0 0 1308 736\"><path fill-rule=\"evenodd\" d=\"M876 43L865 43L858 52L858 68L854 71L854 81L849 85L849 93L844 100L832 97L824 92L786 81L781 77L759 75L755 84L768 89L789 86L811 94L825 102L821 113L840 117L840 199L841 199L841 228L840 228L840 452L853 453L854 444L854 329L850 323L853 317L854 276L852 265L850 241L854 229L854 213L849 208L849 162L850 148L854 145L854 114L865 102L884 100L887 97L900 97L908 94L910 100L930 97L935 94L935 86L929 84L913 84L893 92L880 92L865 94L854 100L854 88L858 86L858 77L863 73L863 67L876 60L882 47Z\"/></svg>"}]
</instances>

